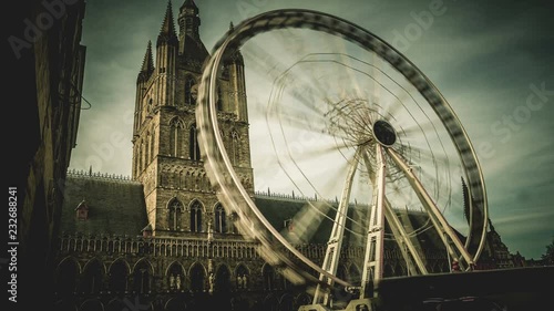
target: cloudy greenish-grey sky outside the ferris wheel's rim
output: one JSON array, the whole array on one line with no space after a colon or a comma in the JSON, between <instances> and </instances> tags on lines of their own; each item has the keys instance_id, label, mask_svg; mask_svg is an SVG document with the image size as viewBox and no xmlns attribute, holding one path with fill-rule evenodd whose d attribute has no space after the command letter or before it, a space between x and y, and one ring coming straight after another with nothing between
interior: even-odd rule
<instances>
[{"instance_id":1,"label":"cloudy greenish-grey sky outside the ferris wheel's rim","mask_svg":"<svg viewBox=\"0 0 554 311\"><path fill-rule=\"evenodd\" d=\"M547 1L196 2L209 51L230 21L284 8L341 17L394 45L437 85L464 125L484 172L490 216L509 249L526 258L544 253L554 237L554 22ZM91 107L81 114L71 168L92 165L95 172L131 175L136 75L166 4L88 1L83 96ZM173 1L174 12L181 4Z\"/></svg>"}]
</instances>

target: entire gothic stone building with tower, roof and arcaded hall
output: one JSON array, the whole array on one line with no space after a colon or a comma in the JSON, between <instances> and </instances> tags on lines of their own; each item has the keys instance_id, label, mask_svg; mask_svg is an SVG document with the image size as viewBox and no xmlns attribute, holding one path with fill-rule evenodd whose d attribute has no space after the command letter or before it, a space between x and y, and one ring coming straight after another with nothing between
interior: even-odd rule
<instances>
[{"instance_id":1,"label":"entire gothic stone building with tower, roof and arcaded hall","mask_svg":"<svg viewBox=\"0 0 554 311\"><path fill-rule=\"evenodd\" d=\"M202 64L198 8L171 3L136 81L132 178L70 172L59 239L55 300L68 310L297 310L311 302L264 262L258 245L233 226L207 179L196 141L195 100ZM226 60L217 89L217 117L243 184L277 229L302 199L255 194L248 138L244 60ZM417 227L422 215L406 212ZM322 262L320 228L298 248ZM431 232L431 230L428 230ZM429 270L448 271L444 248L429 234L419 243ZM406 274L393 241L386 243L386 276ZM342 250L338 274L360 279L363 249ZM133 309L134 308L134 309Z\"/></svg>"}]
</instances>

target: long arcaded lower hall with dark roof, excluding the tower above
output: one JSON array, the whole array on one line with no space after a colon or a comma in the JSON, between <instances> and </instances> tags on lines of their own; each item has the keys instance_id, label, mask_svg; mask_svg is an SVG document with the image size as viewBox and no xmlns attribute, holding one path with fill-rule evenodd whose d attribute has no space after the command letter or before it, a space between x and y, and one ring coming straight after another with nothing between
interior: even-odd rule
<instances>
[{"instance_id":1,"label":"long arcaded lower hall with dark roof, excluding the tower above","mask_svg":"<svg viewBox=\"0 0 554 311\"><path fill-rule=\"evenodd\" d=\"M148 217L143 187L121 176L68 174L54 277L59 308L115 311L140 303L141 310L298 310L311 303L306 288L289 283L278 267L261 259L260 246L245 240L233 226L223 232L194 232L185 226L153 236L148 232L152 228L145 226ZM278 229L285 229L284 220L296 215L307 200L267 193L257 193L254 198ZM315 198L310 200L317 204ZM81 218L83 206L86 219ZM406 217L414 226L423 219L423 215ZM328 229L321 228L296 248L321 265ZM422 248L429 271L449 270L444 249L432 245ZM353 283L359 281L363 255L360 243L349 243L341 250L337 274ZM386 241L384 260L386 277L407 274L406 262L392 240Z\"/></svg>"}]
</instances>

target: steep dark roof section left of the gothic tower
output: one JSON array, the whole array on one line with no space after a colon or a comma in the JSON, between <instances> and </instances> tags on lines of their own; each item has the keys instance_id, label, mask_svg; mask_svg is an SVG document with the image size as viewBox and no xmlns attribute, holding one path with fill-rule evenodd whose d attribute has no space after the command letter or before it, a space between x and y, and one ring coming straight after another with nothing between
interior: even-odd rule
<instances>
[{"instance_id":1,"label":"steep dark roof section left of the gothic tower","mask_svg":"<svg viewBox=\"0 0 554 311\"><path fill-rule=\"evenodd\" d=\"M86 220L76 219L75 207L86 201ZM61 231L140 236L148 224L143 188L122 178L68 174Z\"/></svg>"}]
</instances>

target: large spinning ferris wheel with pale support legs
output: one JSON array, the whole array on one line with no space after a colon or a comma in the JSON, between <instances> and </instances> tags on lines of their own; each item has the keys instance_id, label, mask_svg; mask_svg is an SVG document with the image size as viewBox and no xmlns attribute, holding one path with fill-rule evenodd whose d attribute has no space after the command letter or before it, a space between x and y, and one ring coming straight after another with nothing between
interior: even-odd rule
<instances>
[{"instance_id":1,"label":"large spinning ferris wheel with pale support legs","mask_svg":"<svg viewBox=\"0 0 554 311\"><path fill-rule=\"evenodd\" d=\"M253 156L255 180L312 198L298 215L297 235L270 224L242 185L219 132L217 81L238 50L250 70L250 149L260 151ZM337 286L359 288L363 297L383 278L386 240L398 242L412 276L430 273L420 245L429 230L462 270L482 252L486 191L459 117L402 53L349 21L294 9L238 24L205 65L196 117L206 172L236 227L289 281L314 284L314 303L329 304ZM414 227L399 210L427 221ZM331 230L321 265L297 245L322 222ZM353 242L365 252L359 283L337 273L341 249Z\"/></svg>"}]
</instances>

